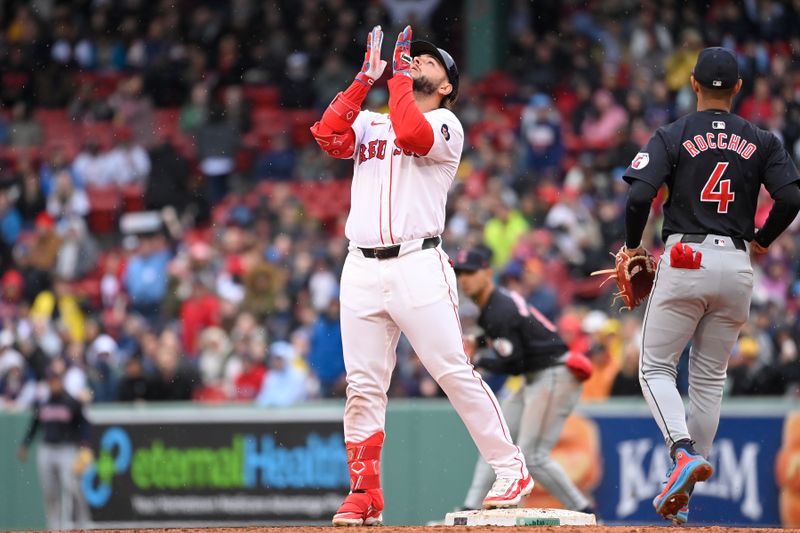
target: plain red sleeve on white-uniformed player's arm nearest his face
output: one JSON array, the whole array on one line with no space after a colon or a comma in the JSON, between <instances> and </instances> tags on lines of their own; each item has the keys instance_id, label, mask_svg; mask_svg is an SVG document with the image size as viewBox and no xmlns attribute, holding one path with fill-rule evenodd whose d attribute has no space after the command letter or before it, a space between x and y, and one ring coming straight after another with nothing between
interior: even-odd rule
<instances>
[{"instance_id":1,"label":"plain red sleeve on white-uniformed player's arm nearest his face","mask_svg":"<svg viewBox=\"0 0 800 533\"><path fill-rule=\"evenodd\" d=\"M427 155L433 147L433 128L417 107L412 84L408 76L395 76L389 80L389 119L397 137L397 146Z\"/></svg>"}]
</instances>

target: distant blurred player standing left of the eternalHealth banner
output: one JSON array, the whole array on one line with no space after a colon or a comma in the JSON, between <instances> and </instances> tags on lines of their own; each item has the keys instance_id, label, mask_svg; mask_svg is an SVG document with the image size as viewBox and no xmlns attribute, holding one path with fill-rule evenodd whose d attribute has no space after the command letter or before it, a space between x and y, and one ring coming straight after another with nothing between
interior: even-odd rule
<instances>
[{"instance_id":1,"label":"distant blurred player standing left of the eternalHealth banner","mask_svg":"<svg viewBox=\"0 0 800 533\"><path fill-rule=\"evenodd\" d=\"M20 461L28 458L36 434L42 442L36 452L39 483L44 493L47 528L80 529L89 525L89 508L80 492L78 465L89 450L91 426L83 404L64 390L63 371L51 365L46 372L49 397L37 403L25 440L17 451Z\"/></svg>"}]
</instances>

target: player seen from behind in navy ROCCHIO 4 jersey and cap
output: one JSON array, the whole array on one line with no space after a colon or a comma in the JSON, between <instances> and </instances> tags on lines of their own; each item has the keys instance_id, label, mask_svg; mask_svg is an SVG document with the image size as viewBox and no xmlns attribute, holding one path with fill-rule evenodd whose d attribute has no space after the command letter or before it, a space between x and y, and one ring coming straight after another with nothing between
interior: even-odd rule
<instances>
[{"instance_id":1,"label":"player seen from behind in navy ROCCHIO 4 jersey and cap","mask_svg":"<svg viewBox=\"0 0 800 533\"><path fill-rule=\"evenodd\" d=\"M728 357L750 310L748 252L765 252L800 210L800 176L781 141L730 112L742 86L733 53L703 50L691 84L697 111L659 128L625 172L625 250L631 256L643 253L640 241L657 190L662 184L669 189L666 248L644 315L639 377L674 461L653 505L676 523L688 519L695 483L713 473L706 457L719 425ZM762 184L775 204L756 231ZM687 419L675 377L689 341Z\"/></svg>"}]
</instances>

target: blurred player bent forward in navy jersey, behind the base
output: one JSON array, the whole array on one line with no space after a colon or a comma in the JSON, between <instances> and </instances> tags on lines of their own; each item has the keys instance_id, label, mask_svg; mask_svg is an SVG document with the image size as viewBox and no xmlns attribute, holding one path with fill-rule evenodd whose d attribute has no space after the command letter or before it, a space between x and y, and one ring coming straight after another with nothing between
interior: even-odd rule
<instances>
[{"instance_id":1,"label":"blurred player bent forward in navy jersey, behind the base","mask_svg":"<svg viewBox=\"0 0 800 533\"><path fill-rule=\"evenodd\" d=\"M491 347L496 355L473 364L496 374L525 377L525 385L501 403L511 436L537 483L568 509L592 513L589 500L550 457L580 399L580 380L591 374L591 362L583 354L568 353L556 327L522 296L495 286L491 258L491 250L478 246L459 253L454 264L461 290L480 308L483 335L475 344ZM464 508L480 509L494 479L491 467L479 458Z\"/></svg>"}]
</instances>

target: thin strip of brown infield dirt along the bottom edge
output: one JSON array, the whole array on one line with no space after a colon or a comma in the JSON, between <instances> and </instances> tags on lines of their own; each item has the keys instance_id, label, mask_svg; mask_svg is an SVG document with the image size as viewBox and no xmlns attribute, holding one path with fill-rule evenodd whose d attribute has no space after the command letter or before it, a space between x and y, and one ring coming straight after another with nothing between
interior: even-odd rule
<instances>
[{"instance_id":1,"label":"thin strip of brown infield dirt along the bottom edge","mask_svg":"<svg viewBox=\"0 0 800 533\"><path fill-rule=\"evenodd\" d=\"M664 529L664 528L669 529ZM509 533L509 527L498 526L383 526L380 528L346 528L347 533ZM536 533L786 533L798 529L769 529L746 527L672 527L664 526L537 526L515 527L515 532ZM243 527L243 528L193 528L193 529L95 529L86 533L331 533L332 527Z\"/></svg>"}]
</instances>

